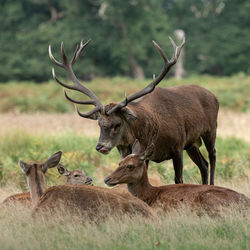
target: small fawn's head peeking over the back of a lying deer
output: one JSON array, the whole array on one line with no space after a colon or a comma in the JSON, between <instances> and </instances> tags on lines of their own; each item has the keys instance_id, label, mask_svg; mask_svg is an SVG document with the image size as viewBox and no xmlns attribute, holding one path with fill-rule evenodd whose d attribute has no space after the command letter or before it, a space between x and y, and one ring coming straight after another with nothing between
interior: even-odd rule
<instances>
[{"instance_id":1,"label":"small fawn's head peeking over the back of a lying deer","mask_svg":"<svg viewBox=\"0 0 250 250\"><path fill-rule=\"evenodd\" d=\"M92 178L88 177L82 170L75 169L69 171L62 164L58 164L57 170L59 174L66 176L67 183L71 185L91 185Z\"/></svg>"}]
</instances>

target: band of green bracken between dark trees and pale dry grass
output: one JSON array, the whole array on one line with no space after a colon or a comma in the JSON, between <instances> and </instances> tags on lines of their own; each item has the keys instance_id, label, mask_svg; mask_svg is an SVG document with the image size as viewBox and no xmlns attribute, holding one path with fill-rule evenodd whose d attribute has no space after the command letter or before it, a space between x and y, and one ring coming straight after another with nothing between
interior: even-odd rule
<instances>
[{"instance_id":1,"label":"band of green bracken between dark trees and pale dry grass","mask_svg":"<svg viewBox=\"0 0 250 250\"><path fill-rule=\"evenodd\" d=\"M129 78L96 78L85 83L100 98L103 104L120 101L125 93L130 95L145 87L151 79L138 81ZM219 99L220 106L235 111L250 109L250 76L233 77L190 76L183 80L173 78L160 83L161 87L182 84L198 84L212 91ZM85 99L86 96L71 93L71 96ZM72 112L70 104L63 96L62 88L55 81L44 84L32 82L10 82L0 84L0 112Z\"/></svg>"}]
</instances>

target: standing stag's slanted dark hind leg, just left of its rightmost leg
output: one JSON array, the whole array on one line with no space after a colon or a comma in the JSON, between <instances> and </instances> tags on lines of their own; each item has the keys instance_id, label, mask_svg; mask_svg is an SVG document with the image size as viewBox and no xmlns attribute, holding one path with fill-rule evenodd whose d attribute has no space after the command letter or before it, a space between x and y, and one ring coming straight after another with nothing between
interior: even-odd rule
<instances>
[{"instance_id":1,"label":"standing stag's slanted dark hind leg, just left of its rightmost leg","mask_svg":"<svg viewBox=\"0 0 250 250\"><path fill-rule=\"evenodd\" d=\"M208 162L201 154L199 148L191 146L187 149L187 153L191 160L199 167L201 172L202 184L208 184Z\"/></svg>"}]
</instances>

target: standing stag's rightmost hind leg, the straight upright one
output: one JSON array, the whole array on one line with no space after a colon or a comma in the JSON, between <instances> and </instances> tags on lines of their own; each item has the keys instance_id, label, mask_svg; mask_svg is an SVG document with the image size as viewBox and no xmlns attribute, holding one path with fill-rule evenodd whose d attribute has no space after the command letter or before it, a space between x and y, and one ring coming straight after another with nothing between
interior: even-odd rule
<instances>
[{"instance_id":1,"label":"standing stag's rightmost hind leg, the straight upright one","mask_svg":"<svg viewBox=\"0 0 250 250\"><path fill-rule=\"evenodd\" d=\"M216 163L216 150L215 150L216 130L213 133L207 133L203 135L202 139L208 151L208 157L210 162L210 185L214 185L214 171Z\"/></svg>"}]
</instances>

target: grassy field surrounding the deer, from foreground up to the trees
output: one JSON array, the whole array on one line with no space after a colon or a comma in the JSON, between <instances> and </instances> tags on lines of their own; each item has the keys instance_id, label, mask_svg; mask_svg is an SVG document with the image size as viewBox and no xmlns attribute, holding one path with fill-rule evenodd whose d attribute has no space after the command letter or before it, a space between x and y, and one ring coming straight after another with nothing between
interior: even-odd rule
<instances>
[{"instance_id":1,"label":"grassy field surrounding the deer, from foreground up to the trees","mask_svg":"<svg viewBox=\"0 0 250 250\"><path fill-rule=\"evenodd\" d=\"M87 83L103 103L120 100L148 81L126 78L97 79ZM200 83L214 92L221 104L216 142L215 183L250 197L250 77L190 77L170 79L161 86ZM103 85L107 86L103 90ZM72 96L76 96L72 94ZM74 114L56 83L0 84L0 202L27 185L18 160L46 160L58 150L69 169L84 169L95 185L119 162L114 149L95 151L99 130L95 121ZM202 152L207 158L206 150ZM173 183L172 162L150 163L149 175ZM47 186L64 183L56 169L47 173ZM200 183L200 173L186 153L184 181ZM198 217L188 210L172 212L159 220L140 217L108 218L100 224L83 223L68 215L34 221L29 209L0 209L0 249L249 249L249 214L232 210L218 218Z\"/></svg>"}]
</instances>

